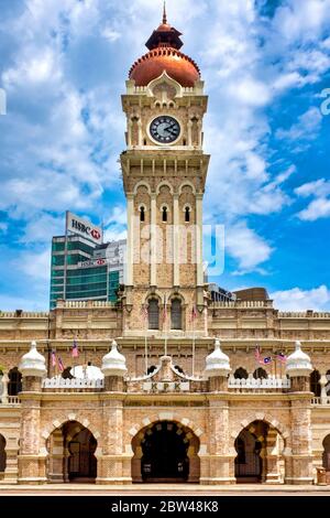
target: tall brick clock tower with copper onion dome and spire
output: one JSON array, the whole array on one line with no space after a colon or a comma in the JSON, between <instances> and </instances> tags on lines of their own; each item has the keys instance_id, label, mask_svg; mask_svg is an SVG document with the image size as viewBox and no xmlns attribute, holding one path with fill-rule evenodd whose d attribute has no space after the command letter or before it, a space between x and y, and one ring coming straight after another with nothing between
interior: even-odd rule
<instances>
[{"instance_id":1,"label":"tall brick clock tower with copper onion dome and spire","mask_svg":"<svg viewBox=\"0 0 330 518\"><path fill-rule=\"evenodd\" d=\"M180 52L180 36L164 9L122 96L124 336L207 336L202 198L209 155L202 151L202 119L208 98L198 66Z\"/></svg>"}]
</instances>

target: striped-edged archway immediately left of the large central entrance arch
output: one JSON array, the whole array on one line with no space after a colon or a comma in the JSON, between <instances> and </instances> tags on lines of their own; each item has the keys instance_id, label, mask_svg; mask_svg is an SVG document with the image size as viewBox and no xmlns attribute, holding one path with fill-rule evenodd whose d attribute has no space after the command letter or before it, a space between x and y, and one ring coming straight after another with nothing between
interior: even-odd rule
<instances>
[{"instance_id":1,"label":"striped-edged archway immediately left of the large central entrance arch","mask_svg":"<svg viewBox=\"0 0 330 518\"><path fill-rule=\"evenodd\" d=\"M50 482L94 483L100 452L98 431L85 419L74 414L67 421L53 421L54 430L43 432L47 452L46 474ZM47 436L45 436L47 434Z\"/></svg>"}]
</instances>

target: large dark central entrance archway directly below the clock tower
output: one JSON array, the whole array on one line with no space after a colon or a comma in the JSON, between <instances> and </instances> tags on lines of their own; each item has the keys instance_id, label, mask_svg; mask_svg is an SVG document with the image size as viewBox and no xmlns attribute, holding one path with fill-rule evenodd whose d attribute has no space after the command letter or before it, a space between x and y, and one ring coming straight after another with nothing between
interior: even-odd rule
<instances>
[{"instance_id":1,"label":"large dark central entrance archway directly below the clock tower","mask_svg":"<svg viewBox=\"0 0 330 518\"><path fill-rule=\"evenodd\" d=\"M199 440L175 421L158 421L143 429L132 441L133 482L199 482Z\"/></svg>"}]
</instances>

